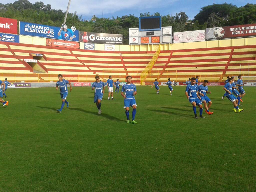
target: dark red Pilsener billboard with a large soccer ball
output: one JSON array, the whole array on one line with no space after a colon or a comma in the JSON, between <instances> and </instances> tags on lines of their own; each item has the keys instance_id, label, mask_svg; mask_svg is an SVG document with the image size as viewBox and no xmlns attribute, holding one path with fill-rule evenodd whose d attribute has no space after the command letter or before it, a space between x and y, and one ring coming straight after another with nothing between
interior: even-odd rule
<instances>
[{"instance_id":1,"label":"dark red Pilsener billboard with a large soccer ball","mask_svg":"<svg viewBox=\"0 0 256 192\"><path fill-rule=\"evenodd\" d=\"M206 29L206 40L256 36L256 24L215 27Z\"/></svg>"}]
</instances>

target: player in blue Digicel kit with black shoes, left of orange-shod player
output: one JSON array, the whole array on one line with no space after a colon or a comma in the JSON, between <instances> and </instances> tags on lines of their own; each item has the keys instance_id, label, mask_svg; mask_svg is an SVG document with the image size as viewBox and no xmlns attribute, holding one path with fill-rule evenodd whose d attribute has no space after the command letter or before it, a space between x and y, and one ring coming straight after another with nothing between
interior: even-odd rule
<instances>
[{"instance_id":1,"label":"player in blue Digicel kit with black shoes, left of orange-shod player","mask_svg":"<svg viewBox=\"0 0 256 192\"><path fill-rule=\"evenodd\" d=\"M189 102L193 105L193 111L195 113L195 118L196 119L198 118L198 116L196 114L196 105L198 105L200 108L200 118L204 118L202 116L203 106L202 106L202 102L200 101L201 97L198 95L198 92L197 92L196 78L193 77L191 79L191 84L189 84L187 86L185 94L186 94Z\"/></svg>"}]
</instances>

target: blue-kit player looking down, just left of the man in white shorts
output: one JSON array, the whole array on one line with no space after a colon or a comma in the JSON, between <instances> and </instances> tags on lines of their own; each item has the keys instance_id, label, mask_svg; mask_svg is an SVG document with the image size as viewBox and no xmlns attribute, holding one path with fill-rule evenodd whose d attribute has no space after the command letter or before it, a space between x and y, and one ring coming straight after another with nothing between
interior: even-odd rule
<instances>
[{"instance_id":1,"label":"blue-kit player looking down, just left of the man in white shorts","mask_svg":"<svg viewBox=\"0 0 256 192\"><path fill-rule=\"evenodd\" d=\"M94 103L96 103L97 108L99 109L98 113L101 114L101 100L103 98L103 93L105 92L105 83L100 81L100 77L98 75L95 76L95 80L96 81L92 84L92 90L95 89Z\"/></svg>"}]
</instances>

